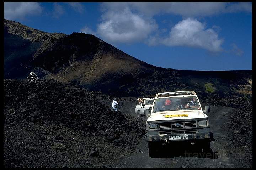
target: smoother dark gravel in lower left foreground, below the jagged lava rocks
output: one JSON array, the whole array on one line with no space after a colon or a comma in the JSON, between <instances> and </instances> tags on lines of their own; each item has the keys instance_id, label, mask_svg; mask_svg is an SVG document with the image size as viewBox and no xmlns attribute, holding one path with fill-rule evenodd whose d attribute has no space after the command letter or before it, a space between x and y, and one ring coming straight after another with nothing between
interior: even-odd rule
<instances>
[{"instance_id":1,"label":"smoother dark gravel in lower left foreground, below the jagged lava rocks","mask_svg":"<svg viewBox=\"0 0 256 170\"><path fill-rule=\"evenodd\" d=\"M60 125L27 122L26 127L15 125L4 131L6 168L112 167L134 152L132 148L113 146L107 137L85 137Z\"/></svg>"}]
</instances>

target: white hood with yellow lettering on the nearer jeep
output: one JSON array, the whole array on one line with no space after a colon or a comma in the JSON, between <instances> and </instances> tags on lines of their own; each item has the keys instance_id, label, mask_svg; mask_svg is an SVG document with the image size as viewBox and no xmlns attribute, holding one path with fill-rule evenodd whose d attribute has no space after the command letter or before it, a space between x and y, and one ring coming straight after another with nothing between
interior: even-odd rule
<instances>
[{"instance_id":1,"label":"white hood with yellow lettering on the nearer jeep","mask_svg":"<svg viewBox=\"0 0 256 170\"><path fill-rule=\"evenodd\" d=\"M206 118L200 110L161 111L152 113L149 121Z\"/></svg>"}]
</instances>

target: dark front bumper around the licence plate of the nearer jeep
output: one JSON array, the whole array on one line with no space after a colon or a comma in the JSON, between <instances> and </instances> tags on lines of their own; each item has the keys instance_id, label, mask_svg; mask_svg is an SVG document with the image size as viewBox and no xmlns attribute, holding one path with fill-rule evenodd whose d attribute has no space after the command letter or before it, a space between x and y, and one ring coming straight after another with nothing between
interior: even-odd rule
<instances>
[{"instance_id":1,"label":"dark front bumper around the licence plate of the nearer jeep","mask_svg":"<svg viewBox=\"0 0 256 170\"><path fill-rule=\"evenodd\" d=\"M188 135L188 140L177 140L177 141L189 141L189 140L198 140L198 139L210 139L210 141L214 141L213 133L212 132L198 132L195 134L175 134L175 135ZM171 134L167 135L145 135L146 141L169 141L169 136Z\"/></svg>"}]
</instances>

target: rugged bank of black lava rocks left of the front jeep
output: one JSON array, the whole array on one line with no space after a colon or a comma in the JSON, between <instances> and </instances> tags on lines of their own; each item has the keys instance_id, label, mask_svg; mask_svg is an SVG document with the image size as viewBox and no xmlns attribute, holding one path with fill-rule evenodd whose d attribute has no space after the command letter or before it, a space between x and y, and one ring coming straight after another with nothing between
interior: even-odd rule
<instances>
[{"instance_id":1,"label":"rugged bank of black lava rocks left of the front jeep","mask_svg":"<svg viewBox=\"0 0 256 170\"><path fill-rule=\"evenodd\" d=\"M145 124L139 118L124 115L121 111L113 112L100 103L101 100L111 103L112 98L71 84L53 80L26 83L5 79L4 91L4 121L9 122L7 126L13 126L16 121L23 126L23 120L39 125L55 124L56 131L60 126L67 126L86 136L106 136L117 146L132 145L140 138L129 136L143 137L145 134ZM28 99L31 95L33 98ZM122 139L123 135L129 139ZM56 136L54 140L63 142L63 137Z\"/></svg>"}]
</instances>

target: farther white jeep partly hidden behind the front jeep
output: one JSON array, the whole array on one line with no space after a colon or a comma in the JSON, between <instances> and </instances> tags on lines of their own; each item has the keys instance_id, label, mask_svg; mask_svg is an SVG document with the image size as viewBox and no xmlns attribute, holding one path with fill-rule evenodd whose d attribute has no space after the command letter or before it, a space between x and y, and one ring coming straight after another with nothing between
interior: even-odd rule
<instances>
[{"instance_id":1,"label":"farther white jeep partly hidden behind the front jeep","mask_svg":"<svg viewBox=\"0 0 256 170\"><path fill-rule=\"evenodd\" d=\"M155 98L145 98L145 97L137 99L135 113L138 114L138 117L141 117L142 115L145 115L147 117L150 116L154 99Z\"/></svg>"}]
</instances>

